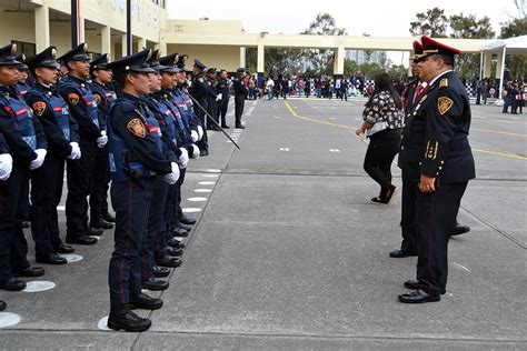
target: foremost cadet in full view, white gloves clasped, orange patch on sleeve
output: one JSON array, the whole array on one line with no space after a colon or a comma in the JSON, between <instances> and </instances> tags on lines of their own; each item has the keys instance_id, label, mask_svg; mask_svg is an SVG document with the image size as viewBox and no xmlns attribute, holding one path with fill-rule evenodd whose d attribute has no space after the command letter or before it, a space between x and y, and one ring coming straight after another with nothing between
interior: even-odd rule
<instances>
[{"instance_id":1,"label":"foremost cadet in full view, white gloves clasped, orange patch on sleeve","mask_svg":"<svg viewBox=\"0 0 527 351\"><path fill-rule=\"evenodd\" d=\"M116 247L110 260L110 315L108 327L145 331L151 321L131 311L156 310L162 301L141 292L141 241L146 233L149 204L156 176L170 184L179 178L177 163L162 154L156 119L141 96L150 91L150 50L110 62L116 81L122 87L108 120L110 197L116 210Z\"/></svg>"}]
</instances>

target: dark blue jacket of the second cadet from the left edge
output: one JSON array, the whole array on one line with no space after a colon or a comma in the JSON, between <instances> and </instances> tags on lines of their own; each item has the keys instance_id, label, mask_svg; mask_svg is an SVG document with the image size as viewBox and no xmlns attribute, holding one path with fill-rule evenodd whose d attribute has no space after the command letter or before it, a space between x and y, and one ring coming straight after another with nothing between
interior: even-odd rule
<instances>
[{"instance_id":1,"label":"dark blue jacket of the second cadet from the left edge","mask_svg":"<svg viewBox=\"0 0 527 351\"><path fill-rule=\"evenodd\" d=\"M64 106L52 106L51 99L62 101ZM59 96L56 87L44 87L36 83L34 88L26 94L26 102L30 106L38 116L50 151L54 151L61 157L66 158L71 154L70 142L79 143L79 126L77 121L71 117L66 106L64 100ZM56 111L59 109L59 111ZM57 118L57 113L64 113L67 118L67 124L69 129L69 138L63 133L63 126L60 126L60 121Z\"/></svg>"}]
</instances>

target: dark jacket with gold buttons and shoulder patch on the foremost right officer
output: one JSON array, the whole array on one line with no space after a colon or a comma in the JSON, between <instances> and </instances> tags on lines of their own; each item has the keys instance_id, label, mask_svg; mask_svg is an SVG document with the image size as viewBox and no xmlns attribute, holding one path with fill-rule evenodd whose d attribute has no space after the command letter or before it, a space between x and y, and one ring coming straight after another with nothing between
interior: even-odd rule
<instances>
[{"instance_id":1,"label":"dark jacket with gold buttons and shoulder patch on the foremost right officer","mask_svg":"<svg viewBox=\"0 0 527 351\"><path fill-rule=\"evenodd\" d=\"M474 179L469 128L470 104L465 87L454 72L444 73L407 113L399 162L418 168L439 183Z\"/></svg>"}]
</instances>

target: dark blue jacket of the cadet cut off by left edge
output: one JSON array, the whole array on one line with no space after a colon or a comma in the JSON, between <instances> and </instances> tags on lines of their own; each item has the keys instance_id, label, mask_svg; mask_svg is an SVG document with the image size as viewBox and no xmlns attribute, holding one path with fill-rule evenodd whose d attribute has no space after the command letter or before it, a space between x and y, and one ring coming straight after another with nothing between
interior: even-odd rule
<instances>
[{"instance_id":1,"label":"dark blue jacket of the cadet cut off by left edge","mask_svg":"<svg viewBox=\"0 0 527 351\"><path fill-rule=\"evenodd\" d=\"M17 106L20 106L20 110L13 110L12 106L14 104L11 102L16 102ZM29 107L19 98L13 87L0 86L0 131L6 139L9 153L13 161L29 166L32 160L37 159L37 153L22 139L22 132L17 123L17 117L21 113L29 113L33 122L37 140L36 149L47 149L48 144L46 142L46 136L42 132L42 126L34 119Z\"/></svg>"}]
</instances>

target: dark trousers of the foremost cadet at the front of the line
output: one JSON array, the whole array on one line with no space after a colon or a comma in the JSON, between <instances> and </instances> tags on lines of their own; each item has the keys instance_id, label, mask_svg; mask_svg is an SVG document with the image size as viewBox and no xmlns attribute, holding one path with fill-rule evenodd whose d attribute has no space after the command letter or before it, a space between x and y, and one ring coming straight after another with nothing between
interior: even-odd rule
<instances>
[{"instance_id":1,"label":"dark trousers of the foremost cadet at the front of the line","mask_svg":"<svg viewBox=\"0 0 527 351\"><path fill-rule=\"evenodd\" d=\"M112 182L110 198L116 211L115 249L109 269L110 303L118 308L141 293L141 243L147 231L156 178Z\"/></svg>"}]
</instances>

